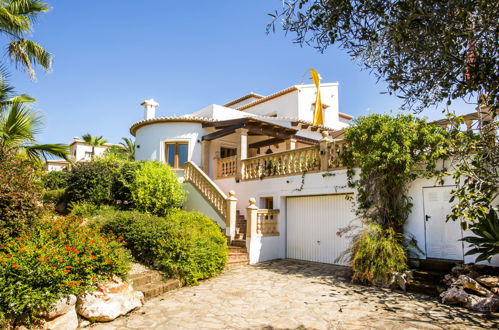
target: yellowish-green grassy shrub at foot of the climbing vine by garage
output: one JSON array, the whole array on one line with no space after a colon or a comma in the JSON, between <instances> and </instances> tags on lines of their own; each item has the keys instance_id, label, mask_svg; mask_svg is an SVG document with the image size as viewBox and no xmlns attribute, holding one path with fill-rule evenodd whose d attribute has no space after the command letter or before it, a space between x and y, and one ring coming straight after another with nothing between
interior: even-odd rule
<instances>
[{"instance_id":1,"label":"yellowish-green grassy shrub at foot of the climbing vine by garage","mask_svg":"<svg viewBox=\"0 0 499 330\"><path fill-rule=\"evenodd\" d=\"M354 239L353 280L378 286L390 284L394 272L407 269L403 235L380 225L367 225Z\"/></svg>"}]
</instances>

